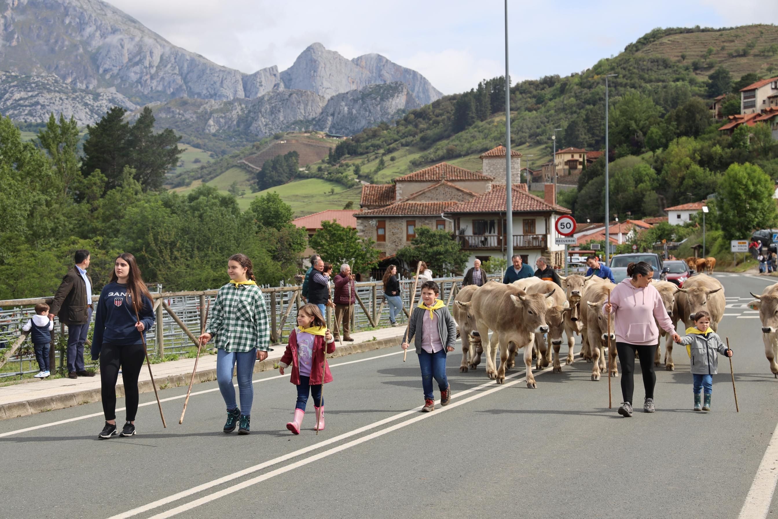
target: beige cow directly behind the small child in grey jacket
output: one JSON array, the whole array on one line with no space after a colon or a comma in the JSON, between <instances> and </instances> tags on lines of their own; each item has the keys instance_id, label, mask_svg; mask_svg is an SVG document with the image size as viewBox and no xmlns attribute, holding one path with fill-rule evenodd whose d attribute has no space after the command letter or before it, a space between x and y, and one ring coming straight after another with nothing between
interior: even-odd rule
<instances>
[{"instance_id":1,"label":"beige cow directly behind the small child in grey jacket","mask_svg":"<svg viewBox=\"0 0 778 519\"><path fill-rule=\"evenodd\" d=\"M671 318L682 321L685 328L694 326L693 316L696 311L706 310L710 314L710 328L717 331L721 319L724 318L724 308L727 306L724 286L721 286L719 280L710 277L710 275L693 275L684 282L682 289L677 289L675 304L678 315ZM674 321L673 324L678 321ZM676 328L678 328L677 325ZM672 371L675 369L672 341L667 342L666 346L664 366L668 371Z\"/></svg>"}]
</instances>

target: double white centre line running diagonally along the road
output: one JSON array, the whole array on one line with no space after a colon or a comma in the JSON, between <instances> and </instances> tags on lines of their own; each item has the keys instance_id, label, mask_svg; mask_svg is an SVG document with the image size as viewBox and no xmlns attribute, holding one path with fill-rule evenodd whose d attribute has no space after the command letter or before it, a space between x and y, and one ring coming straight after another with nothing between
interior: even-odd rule
<instances>
[{"instance_id":1,"label":"double white centre line running diagonally along the road","mask_svg":"<svg viewBox=\"0 0 778 519\"><path fill-rule=\"evenodd\" d=\"M576 354L576 357L577 356L579 356L579 354ZM544 370L534 371L534 375L538 376L541 373L547 373L548 371L550 371L552 369L553 369L553 366L548 366ZM505 377L505 379L508 380L510 378L518 377L522 373L526 373L526 372L525 371L517 371L516 373L513 373L511 375L507 375ZM276 468L275 470L273 470L271 472L268 472L268 473L263 474L263 475L258 475L258 476L254 477L252 479L247 479L247 481L237 483L236 485L230 486L230 487L228 487L226 489L223 489L223 490L219 490L218 492L209 494L208 496L203 496L203 497L201 497L201 498L199 498L197 500L190 501L189 503L184 503L184 504L182 504L182 505L180 505L178 507L172 508L170 510L166 510L166 511L160 513L160 514L157 514L157 515L154 515L154 516L150 517L149 519L163 519L163 517L172 517L173 515L180 514L181 512L184 512L186 510L191 510L192 508L199 507L202 504L209 503L209 502L211 502L213 500L217 500L217 499L219 499L219 497L228 496L231 493L235 493L238 490L247 488L248 486L256 485L259 482L263 482L263 481L265 481L267 479L271 479L272 477L275 477L276 475L281 475L281 474L283 474L285 472L289 472L289 471L291 471L291 470L293 470L295 468L302 467L303 465L308 465L308 464L310 464L310 463L312 463L314 461L317 461L317 460L319 460L321 458L326 458L327 456L330 456L331 454L336 454L336 453L338 453L340 451L344 451L345 449L348 449L350 447L355 447L356 445L363 444L366 441L373 440L373 438L377 438L377 437L383 436L384 434L391 433L394 430L401 429L402 427L411 425L412 423L419 422L420 420L429 418L430 416L436 416L436 414L440 414L440 412L444 412L444 411L447 411L449 409L453 409L455 407L458 407L459 405L464 405L464 404L466 404L468 402L472 402L473 400L475 400L477 398L482 398L482 397L485 397L486 395L491 395L492 393L494 393L496 391L500 391L502 389L505 389L506 387L511 387L511 386L513 386L515 384L519 384L523 380L525 380L525 377L521 377L520 379L513 380L511 382L506 382L505 384L495 384L495 382L493 380L489 380L489 382L486 382L485 384L481 384L481 385L479 385L477 387L473 387L472 389L468 389L466 391L459 391L459 392L451 395L451 398L461 397L462 395L467 395L468 393L471 393L471 392L474 392L474 391L478 391L479 389L483 389L485 387L492 386L492 388L487 390L487 391L483 391L481 393L478 393L477 395L472 395L471 397L465 398L464 400L457 400L457 402L453 402L453 403L447 405L446 407L441 407L439 410L436 410L435 412L423 413L423 414L421 414L419 416L415 416L415 418L408 419L405 422L401 422L401 423L395 424L394 426L387 427L387 429L382 429L382 430L376 431L374 433L370 433L370 434L368 434L368 435L366 435L364 437L357 438L356 440L352 440L352 441L350 441L350 442L348 442L346 444L338 445L337 447L332 447L328 451L324 451L324 452L321 452L319 454L314 454L313 456L310 456L309 458L305 458L305 459L302 459L300 461L296 461L296 462L294 462L292 464L285 465L285 466L280 467L280 468ZM436 403L439 403L439 402L440 401L436 401ZM198 486L192 487L191 489L184 490L182 492L173 494L172 496L168 496L168 497L163 498L161 500L154 501L153 503L149 503L149 504L144 505L142 507L138 507L138 508L135 508L133 510L128 510L127 512L124 512L124 514L118 514L118 515L111 516L111 517L109 517L109 519L126 519L127 517L133 517L135 515L142 514L145 511L152 510L154 508L161 507L161 506L163 506L163 505L165 505L167 503L172 503L173 501L180 500L180 499L182 499L184 497L191 496L191 495L193 495L195 493L198 493L198 492L202 492L202 490L212 488L213 486L221 485L224 482L228 482L228 481L231 481L233 479L240 478L240 477L242 477L244 475L247 475L247 474L249 474L251 472L257 472L258 470L261 470L262 468L266 468L266 467L268 467L270 465L275 465L277 463L280 463L281 461L286 461L286 460L288 460L290 458L294 458L294 457L296 457L296 456L298 456L300 454L307 453L308 451L312 451L312 450L314 450L316 448L324 447L325 445L332 444L332 443L334 443L336 441L339 441L339 440L342 440L342 439L344 439L346 437L353 436L355 434L361 433L361 432L369 430L369 429L374 429L377 426L381 426L381 425L384 425L385 423L389 423L389 422L394 421L396 419L408 416L409 414L419 412L421 407L422 406L419 406L419 407L417 407L415 409L410 409L408 411L401 412L398 415L391 416L391 417L389 417L387 419L380 420L379 422L371 423L371 424L369 424L367 426L360 427L357 430L353 430L353 431L351 431L349 433L341 434L338 437L331 438L330 440L324 440L323 442L321 442L319 444L314 444L314 445L311 445L310 447L305 447L303 449L300 449L300 451L295 451L295 452L292 452L292 453L289 453L289 454L285 454L283 456L279 456L279 458L275 458L275 459L272 459L272 460L265 461L264 463L261 463L259 465L254 465L254 467L244 468L244 470L241 470L239 472L235 472L233 474L223 476L222 478L219 478L219 479L214 479L211 482L203 483L202 485L198 485Z\"/></svg>"}]
</instances>

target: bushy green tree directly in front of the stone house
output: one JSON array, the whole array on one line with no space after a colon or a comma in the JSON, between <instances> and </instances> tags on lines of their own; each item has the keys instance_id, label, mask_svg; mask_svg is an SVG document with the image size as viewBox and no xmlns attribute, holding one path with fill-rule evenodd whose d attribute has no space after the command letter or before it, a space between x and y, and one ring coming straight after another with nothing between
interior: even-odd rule
<instances>
[{"instance_id":1,"label":"bushy green tree directly in front of the stone house","mask_svg":"<svg viewBox=\"0 0 778 519\"><path fill-rule=\"evenodd\" d=\"M461 250L461 244L451 237L449 231L416 227L416 237L410 245L397 251L397 257L407 264L425 261L430 270L443 275L464 272L470 254Z\"/></svg>"}]
</instances>

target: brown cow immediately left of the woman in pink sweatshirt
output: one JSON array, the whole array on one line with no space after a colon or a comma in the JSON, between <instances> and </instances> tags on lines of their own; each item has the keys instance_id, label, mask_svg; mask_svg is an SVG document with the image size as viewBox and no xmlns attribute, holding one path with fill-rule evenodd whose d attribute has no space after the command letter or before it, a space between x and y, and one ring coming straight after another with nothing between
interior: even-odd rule
<instances>
[{"instance_id":1,"label":"brown cow immediately left of the woman in pink sweatshirt","mask_svg":"<svg viewBox=\"0 0 778 519\"><path fill-rule=\"evenodd\" d=\"M610 281L596 283L587 286L584 290L584 296L581 299L581 319L584 321L583 342L584 347L581 350L584 355L586 349L587 355L592 358L591 380L600 380L601 371L605 370L605 345L608 340L608 321L610 321L610 370L614 377L619 376L619 370L616 367L616 335L613 314L605 316L602 313L602 307L608 302L608 294L615 285Z\"/></svg>"}]
</instances>

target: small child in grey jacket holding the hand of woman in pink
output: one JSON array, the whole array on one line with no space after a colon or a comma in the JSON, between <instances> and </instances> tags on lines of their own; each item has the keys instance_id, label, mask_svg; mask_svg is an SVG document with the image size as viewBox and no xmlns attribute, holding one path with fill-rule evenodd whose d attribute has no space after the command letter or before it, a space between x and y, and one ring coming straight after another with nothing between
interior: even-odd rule
<instances>
[{"instance_id":1,"label":"small child in grey jacket holding the hand of woman in pink","mask_svg":"<svg viewBox=\"0 0 778 519\"><path fill-rule=\"evenodd\" d=\"M713 375L718 373L719 353L731 357L732 350L727 349L715 331L709 328L710 314L699 310L694 315L694 328L687 328L686 335L679 344L686 345L686 352L692 364L694 378L694 410L710 411L710 395L713 393ZM703 387L705 403L703 404Z\"/></svg>"}]
</instances>

